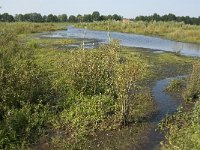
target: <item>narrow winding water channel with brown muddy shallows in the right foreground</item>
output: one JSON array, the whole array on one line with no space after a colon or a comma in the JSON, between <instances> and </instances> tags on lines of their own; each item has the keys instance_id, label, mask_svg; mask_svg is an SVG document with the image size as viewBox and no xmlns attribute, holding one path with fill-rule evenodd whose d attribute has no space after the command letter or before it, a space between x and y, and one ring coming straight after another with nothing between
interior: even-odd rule
<instances>
[{"instance_id":1,"label":"narrow winding water channel with brown muddy shallows in the right foreground","mask_svg":"<svg viewBox=\"0 0 200 150\"><path fill-rule=\"evenodd\" d=\"M172 95L165 92L171 80L184 78L178 76L166 78L156 82L152 89L152 93L157 104L157 112L149 121L145 123L137 123L117 131L106 131L97 134L92 138L91 149L116 149L116 150L159 150L160 142L164 140L164 135L157 131L158 123L166 117L177 111L181 105L181 100L176 99ZM145 127L146 126L146 127ZM145 130L145 134L139 134ZM142 133L142 132L141 132ZM139 141L139 144L135 144Z\"/></svg>"}]
</instances>

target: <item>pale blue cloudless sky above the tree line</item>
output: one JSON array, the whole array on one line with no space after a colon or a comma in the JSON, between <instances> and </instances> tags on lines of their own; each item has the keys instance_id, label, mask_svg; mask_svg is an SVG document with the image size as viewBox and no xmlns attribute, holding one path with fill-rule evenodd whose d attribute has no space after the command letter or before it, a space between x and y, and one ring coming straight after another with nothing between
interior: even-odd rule
<instances>
[{"instance_id":1,"label":"pale blue cloudless sky above the tree line","mask_svg":"<svg viewBox=\"0 0 200 150\"><path fill-rule=\"evenodd\" d=\"M0 0L0 14L37 12L48 14L118 14L124 18L139 15L173 13L177 16L200 16L200 0Z\"/></svg>"}]
</instances>

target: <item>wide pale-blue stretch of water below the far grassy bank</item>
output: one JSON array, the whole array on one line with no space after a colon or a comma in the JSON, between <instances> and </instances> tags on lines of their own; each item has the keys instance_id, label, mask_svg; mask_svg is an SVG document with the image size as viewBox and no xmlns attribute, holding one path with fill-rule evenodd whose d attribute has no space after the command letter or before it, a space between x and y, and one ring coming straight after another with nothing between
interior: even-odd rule
<instances>
[{"instance_id":1,"label":"wide pale-blue stretch of water below the far grassy bank","mask_svg":"<svg viewBox=\"0 0 200 150\"><path fill-rule=\"evenodd\" d=\"M66 31L55 31L43 36L55 38L87 38L100 40L101 43L108 42L108 34L105 31L92 31L73 27L68 27L68 30ZM119 32L110 32L110 36L112 39L120 40L121 45L123 46L172 52L180 51L183 55L200 57L200 45L198 44L175 42L157 37Z\"/></svg>"}]
</instances>

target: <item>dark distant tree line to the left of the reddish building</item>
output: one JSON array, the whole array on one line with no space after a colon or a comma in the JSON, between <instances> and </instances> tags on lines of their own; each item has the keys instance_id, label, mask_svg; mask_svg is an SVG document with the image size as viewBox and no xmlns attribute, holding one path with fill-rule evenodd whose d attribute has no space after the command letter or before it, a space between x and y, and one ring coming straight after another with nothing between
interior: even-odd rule
<instances>
[{"instance_id":1,"label":"dark distant tree line to the left of the reddish building","mask_svg":"<svg viewBox=\"0 0 200 150\"><path fill-rule=\"evenodd\" d=\"M101 15L98 11L94 11L92 14L85 15L41 15L40 13L27 13L16 14L15 16L8 13L0 14L0 22L94 22L105 20L122 20L122 16L114 15Z\"/></svg>"}]
</instances>

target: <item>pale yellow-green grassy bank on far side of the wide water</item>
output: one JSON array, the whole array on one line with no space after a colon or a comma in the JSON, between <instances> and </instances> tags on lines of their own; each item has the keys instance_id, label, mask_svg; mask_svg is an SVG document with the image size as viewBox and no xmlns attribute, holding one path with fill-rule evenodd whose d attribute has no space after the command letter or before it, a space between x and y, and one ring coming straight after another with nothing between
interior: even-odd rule
<instances>
[{"instance_id":1,"label":"pale yellow-green grassy bank on far side of the wide water","mask_svg":"<svg viewBox=\"0 0 200 150\"><path fill-rule=\"evenodd\" d=\"M118 31L125 33L137 33L143 35L160 36L163 38L200 43L200 26L186 25L184 23L177 22L94 22L94 23L79 23L75 24L76 27L93 30L105 30L105 31Z\"/></svg>"}]
</instances>

